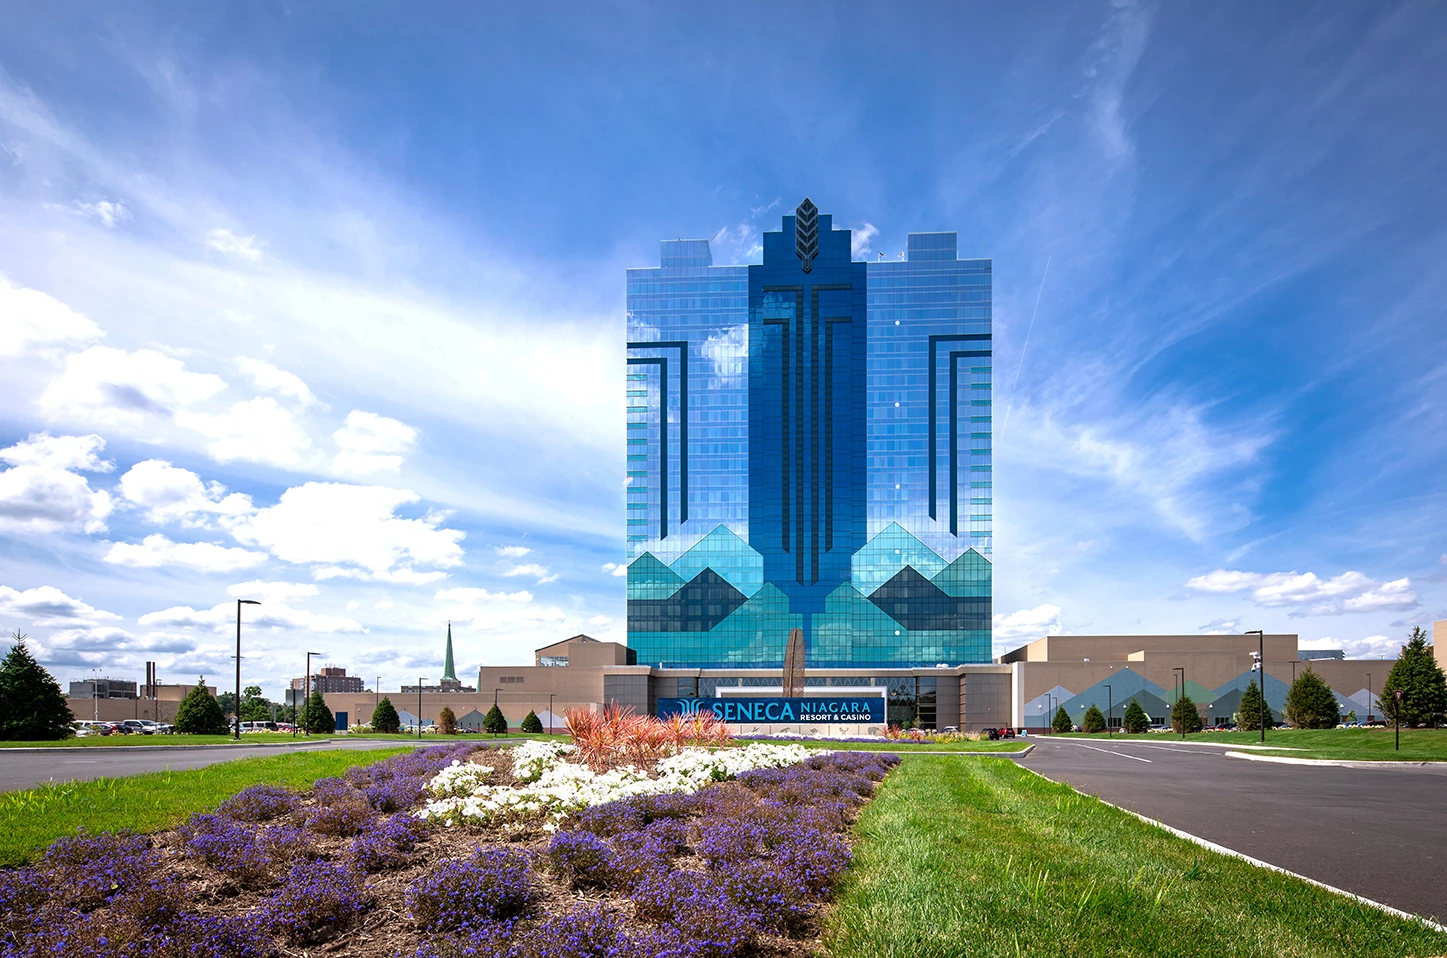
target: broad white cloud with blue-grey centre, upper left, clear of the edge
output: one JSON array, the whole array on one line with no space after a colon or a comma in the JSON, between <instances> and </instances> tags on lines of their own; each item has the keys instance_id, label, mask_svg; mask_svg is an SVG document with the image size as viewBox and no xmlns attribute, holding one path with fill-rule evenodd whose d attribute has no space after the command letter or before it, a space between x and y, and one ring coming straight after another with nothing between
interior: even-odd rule
<instances>
[{"instance_id":1,"label":"broad white cloud with blue-grey centre, upper left, clear of the edge","mask_svg":"<svg viewBox=\"0 0 1447 958\"><path fill-rule=\"evenodd\" d=\"M52 420L153 433L177 411L223 389L220 376L188 372L179 359L152 349L91 346L65 357L65 369L46 386L39 407Z\"/></svg>"}]
</instances>

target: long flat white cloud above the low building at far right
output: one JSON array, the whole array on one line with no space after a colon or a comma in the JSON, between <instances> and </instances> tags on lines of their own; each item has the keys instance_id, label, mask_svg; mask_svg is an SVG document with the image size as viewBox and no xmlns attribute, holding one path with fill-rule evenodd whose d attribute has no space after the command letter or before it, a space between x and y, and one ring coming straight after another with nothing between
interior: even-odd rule
<instances>
[{"instance_id":1,"label":"long flat white cloud above the low building at far right","mask_svg":"<svg viewBox=\"0 0 1447 958\"><path fill-rule=\"evenodd\" d=\"M1298 606L1301 615L1341 615L1343 612L1405 611L1421 605L1409 579L1376 582L1360 572L1343 572L1321 579L1312 572L1237 572L1217 569L1187 580L1188 589L1227 593L1250 589L1250 599L1263 608Z\"/></svg>"}]
</instances>

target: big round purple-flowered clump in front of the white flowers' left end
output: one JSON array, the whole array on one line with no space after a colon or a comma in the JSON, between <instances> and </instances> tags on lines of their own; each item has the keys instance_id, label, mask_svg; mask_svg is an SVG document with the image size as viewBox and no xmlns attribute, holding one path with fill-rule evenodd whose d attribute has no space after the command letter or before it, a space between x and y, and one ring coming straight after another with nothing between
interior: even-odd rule
<instances>
[{"instance_id":1,"label":"big round purple-flowered clump in front of the white flowers' left end","mask_svg":"<svg viewBox=\"0 0 1447 958\"><path fill-rule=\"evenodd\" d=\"M451 932L525 915L535 897L522 854L479 847L467 858L433 865L407 890L407 907L424 931Z\"/></svg>"}]
</instances>

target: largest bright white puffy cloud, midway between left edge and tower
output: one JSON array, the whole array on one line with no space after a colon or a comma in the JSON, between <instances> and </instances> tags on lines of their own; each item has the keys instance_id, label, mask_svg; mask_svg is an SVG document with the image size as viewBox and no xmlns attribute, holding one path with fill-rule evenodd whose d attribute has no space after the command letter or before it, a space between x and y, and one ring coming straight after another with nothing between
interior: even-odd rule
<instances>
[{"instance_id":1,"label":"largest bright white puffy cloud, midway between left edge and tower","mask_svg":"<svg viewBox=\"0 0 1447 958\"><path fill-rule=\"evenodd\" d=\"M399 564L460 564L463 550L457 543L464 534L440 528L441 515L396 515L399 506L417 501L408 489L308 482L287 489L276 505L243 520L232 534L285 561L357 569L379 577L410 572L394 572Z\"/></svg>"}]
</instances>

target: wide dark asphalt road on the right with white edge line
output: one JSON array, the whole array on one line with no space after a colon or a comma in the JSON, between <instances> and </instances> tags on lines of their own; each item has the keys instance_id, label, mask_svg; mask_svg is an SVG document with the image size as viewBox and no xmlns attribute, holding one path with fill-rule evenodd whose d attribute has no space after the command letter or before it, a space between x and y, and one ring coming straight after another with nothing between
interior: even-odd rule
<instances>
[{"instance_id":1,"label":"wide dark asphalt road on the right with white edge line","mask_svg":"<svg viewBox=\"0 0 1447 958\"><path fill-rule=\"evenodd\" d=\"M1447 767L1340 768L1224 748L1032 737L1022 766L1297 874L1447 919Z\"/></svg>"}]
</instances>

